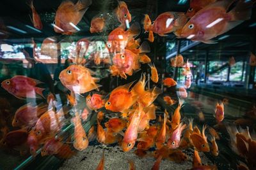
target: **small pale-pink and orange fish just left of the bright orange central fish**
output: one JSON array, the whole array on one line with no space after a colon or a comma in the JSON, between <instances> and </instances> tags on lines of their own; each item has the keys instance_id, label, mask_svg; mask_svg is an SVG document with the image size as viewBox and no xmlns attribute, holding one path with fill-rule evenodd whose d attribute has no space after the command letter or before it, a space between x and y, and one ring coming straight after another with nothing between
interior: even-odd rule
<instances>
[{"instance_id":1,"label":"small pale-pink and orange fish just left of the bright orange central fish","mask_svg":"<svg viewBox=\"0 0 256 170\"><path fill-rule=\"evenodd\" d=\"M104 104L106 103L106 101L103 99L103 96L100 94L93 94L91 96L91 94L88 94L88 96L86 97L86 106L90 109L90 110L99 110L100 108L104 107Z\"/></svg>"}]
</instances>

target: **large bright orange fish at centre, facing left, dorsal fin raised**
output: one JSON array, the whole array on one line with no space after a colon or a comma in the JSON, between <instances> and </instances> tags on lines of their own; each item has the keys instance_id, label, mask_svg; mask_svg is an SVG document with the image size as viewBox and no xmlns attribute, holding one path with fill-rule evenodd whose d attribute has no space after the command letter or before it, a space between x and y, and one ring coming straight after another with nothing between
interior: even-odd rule
<instances>
[{"instance_id":1,"label":"large bright orange fish at centre, facing left, dorsal fin raised","mask_svg":"<svg viewBox=\"0 0 256 170\"><path fill-rule=\"evenodd\" d=\"M111 92L105 104L106 110L125 113L131 108L138 98L132 90L129 91L132 83L119 86Z\"/></svg>"}]
</instances>

